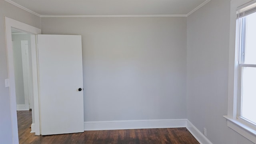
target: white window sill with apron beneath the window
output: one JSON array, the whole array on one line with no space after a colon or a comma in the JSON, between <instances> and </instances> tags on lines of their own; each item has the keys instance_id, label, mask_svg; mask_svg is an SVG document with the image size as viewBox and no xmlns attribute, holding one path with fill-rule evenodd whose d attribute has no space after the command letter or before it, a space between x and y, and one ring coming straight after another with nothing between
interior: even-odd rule
<instances>
[{"instance_id":1,"label":"white window sill with apron beneath the window","mask_svg":"<svg viewBox=\"0 0 256 144\"><path fill-rule=\"evenodd\" d=\"M229 116L223 116L227 119L228 127L230 127L232 130L238 132L248 140L256 143L256 131L252 129L250 126L247 126L246 124L243 124L242 122L230 118Z\"/></svg>"}]
</instances>

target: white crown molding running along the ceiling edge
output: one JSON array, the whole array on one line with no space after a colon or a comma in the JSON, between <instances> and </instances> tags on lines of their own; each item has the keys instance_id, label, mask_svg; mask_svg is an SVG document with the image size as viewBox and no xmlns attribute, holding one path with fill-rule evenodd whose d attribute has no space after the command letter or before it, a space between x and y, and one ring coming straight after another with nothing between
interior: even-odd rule
<instances>
[{"instance_id":1,"label":"white crown molding running along the ceiling edge","mask_svg":"<svg viewBox=\"0 0 256 144\"><path fill-rule=\"evenodd\" d=\"M27 12L34 14L36 16L39 16L41 18L123 18L123 17L188 17L190 14L210 2L211 0L205 0L202 4L200 4L198 7L196 7L194 10L189 12L188 14L166 14L166 15L40 15L36 12L33 12L32 10L29 10L28 8L25 8L24 6L21 6L20 4L17 4L16 2L13 2L12 0L5 0L6 2L9 2L10 4L13 4L14 6L17 6L18 8L21 8L22 10L26 10Z\"/></svg>"}]
</instances>

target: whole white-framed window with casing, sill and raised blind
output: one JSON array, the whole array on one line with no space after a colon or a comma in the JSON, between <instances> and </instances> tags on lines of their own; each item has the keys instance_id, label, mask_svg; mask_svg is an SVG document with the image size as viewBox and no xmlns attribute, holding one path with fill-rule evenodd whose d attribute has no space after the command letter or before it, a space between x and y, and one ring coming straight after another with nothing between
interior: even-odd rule
<instances>
[{"instance_id":1,"label":"whole white-framed window with casing, sill and raised blind","mask_svg":"<svg viewBox=\"0 0 256 144\"><path fill-rule=\"evenodd\" d=\"M231 0L228 127L256 143L256 0Z\"/></svg>"}]
</instances>

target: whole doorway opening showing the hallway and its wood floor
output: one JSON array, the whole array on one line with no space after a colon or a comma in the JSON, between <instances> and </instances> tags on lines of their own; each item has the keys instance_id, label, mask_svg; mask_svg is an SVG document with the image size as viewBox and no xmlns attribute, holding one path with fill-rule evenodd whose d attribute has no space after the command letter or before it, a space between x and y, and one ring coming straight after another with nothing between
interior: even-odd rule
<instances>
[{"instance_id":1,"label":"whole doorway opening showing the hallway and its wood floor","mask_svg":"<svg viewBox=\"0 0 256 144\"><path fill-rule=\"evenodd\" d=\"M31 35L11 29L19 139L34 132Z\"/></svg>"}]
</instances>

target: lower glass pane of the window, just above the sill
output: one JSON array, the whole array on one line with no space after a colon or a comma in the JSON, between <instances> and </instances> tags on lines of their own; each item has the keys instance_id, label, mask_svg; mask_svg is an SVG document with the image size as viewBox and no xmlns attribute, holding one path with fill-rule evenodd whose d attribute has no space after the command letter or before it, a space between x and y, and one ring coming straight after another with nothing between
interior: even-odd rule
<instances>
[{"instance_id":1,"label":"lower glass pane of the window, just above the sill","mask_svg":"<svg viewBox=\"0 0 256 144\"><path fill-rule=\"evenodd\" d=\"M256 68L242 68L241 116L256 123Z\"/></svg>"}]
</instances>

